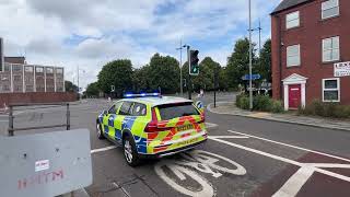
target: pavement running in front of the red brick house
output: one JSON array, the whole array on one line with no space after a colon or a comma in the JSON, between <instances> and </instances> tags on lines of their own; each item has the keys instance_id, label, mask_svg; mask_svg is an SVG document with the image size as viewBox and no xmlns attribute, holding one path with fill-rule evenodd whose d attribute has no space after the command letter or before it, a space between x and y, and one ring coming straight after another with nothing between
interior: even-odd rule
<instances>
[{"instance_id":1,"label":"pavement running in front of the red brick house","mask_svg":"<svg viewBox=\"0 0 350 197\"><path fill-rule=\"evenodd\" d=\"M322 118L322 117L310 117L310 116L301 116L301 115L298 115L296 113L272 114L272 113L266 113L266 112L249 112L249 111L244 111L236 107L234 102L218 102L217 107L214 107L213 103L210 103L207 108L211 113L217 113L217 114L235 115L235 116L243 116L243 117L249 117L249 118L267 119L267 120L273 120L273 121L291 123L291 124L306 125L306 126L313 126L313 127L350 131L350 119L340 120L340 119Z\"/></svg>"}]
</instances>

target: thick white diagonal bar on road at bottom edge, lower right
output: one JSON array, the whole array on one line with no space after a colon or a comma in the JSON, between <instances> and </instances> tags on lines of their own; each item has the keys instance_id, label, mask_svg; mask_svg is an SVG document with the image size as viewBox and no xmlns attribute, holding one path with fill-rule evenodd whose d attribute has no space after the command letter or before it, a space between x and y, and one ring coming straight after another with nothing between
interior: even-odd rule
<instances>
[{"instance_id":1,"label":"thick white diagonal bar on road at bottom edge, lower right","mask_svg":"<svg viewBox=\"0 0 350 197\"><path fill-rule=\"evenodd\" d=\"M307 179L314 174L312 167L301 167L272 197L296 196Z\"/></svg>"}]
</instances>

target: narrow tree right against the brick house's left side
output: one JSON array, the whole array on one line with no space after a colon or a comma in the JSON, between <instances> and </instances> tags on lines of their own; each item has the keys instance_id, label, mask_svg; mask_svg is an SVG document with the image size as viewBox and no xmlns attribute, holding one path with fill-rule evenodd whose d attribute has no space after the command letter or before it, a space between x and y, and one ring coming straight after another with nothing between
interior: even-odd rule
<instances>
[{"instance_id":1,"label":"narrow tree right against the brick house's left side","mask_svg":"<svg viewBox=\"0 0 350 197\"><path fill-rule=\"evenodd\" d=\"M271 39L266 40L260 51L259 63L257 68L261 74L261 79L266 79L267 82L272 81L271 77Z\"/></svg>"}]
</instances>

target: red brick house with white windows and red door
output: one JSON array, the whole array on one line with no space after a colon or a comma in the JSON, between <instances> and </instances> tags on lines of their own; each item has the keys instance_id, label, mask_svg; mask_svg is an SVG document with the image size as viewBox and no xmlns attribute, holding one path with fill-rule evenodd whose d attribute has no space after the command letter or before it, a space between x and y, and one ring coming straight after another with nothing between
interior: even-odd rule
<instances>
[{"instance_id":1,"label":"red brick house with white windows and red door","mask_svg":"<svg viewBox=\"0 0 350 197\"><path fill-rule=\"evenodd\" d=\"M350 0L283 0L271 27L273 99L350 105Z\"/></svg>"}]
</instances>

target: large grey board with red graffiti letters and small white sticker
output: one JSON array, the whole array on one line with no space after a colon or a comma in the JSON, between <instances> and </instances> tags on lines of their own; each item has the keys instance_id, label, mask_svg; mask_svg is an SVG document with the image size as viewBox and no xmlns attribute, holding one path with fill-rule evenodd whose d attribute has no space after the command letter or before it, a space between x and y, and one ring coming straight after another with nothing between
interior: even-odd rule
<instances>
[{"instance_id":1,"label":"large grey board with red graffiti letters and small white sticker","mask_svg":"<svg viewBox=\"0 0 350 197\"><path fill-rule=\"evenodd\" d=\"M1 196L58 196L90 186L90 131L0 137L0 169Z\"/></svg>"}]
</instances>

